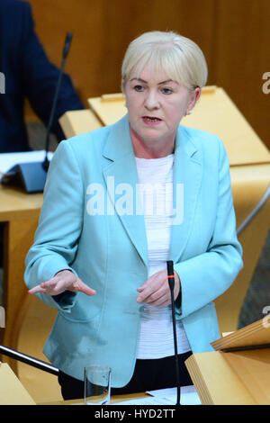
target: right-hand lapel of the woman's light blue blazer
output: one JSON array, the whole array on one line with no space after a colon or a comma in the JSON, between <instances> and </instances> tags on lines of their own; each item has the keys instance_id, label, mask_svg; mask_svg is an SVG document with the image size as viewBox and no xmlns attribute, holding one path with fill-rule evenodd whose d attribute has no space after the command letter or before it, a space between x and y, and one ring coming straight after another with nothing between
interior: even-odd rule
<instances>
[{"instance_id":1,"label":"right-hand lapel of the woman's light blue blazer","mask_svg":"<svg viewBox=\"0 0 270 423\"><path fill-rule=\"evenodd\" d=\"M169 259L180 261L193 227L202 181L202 162L192 139L180 126L175 140L174 211Z\"/></svg>"}]
</instances>

